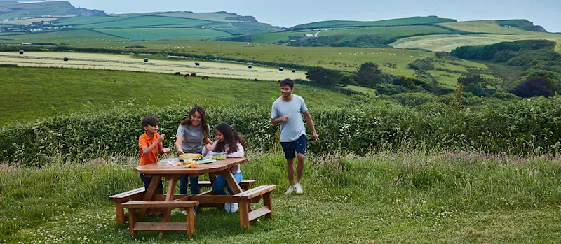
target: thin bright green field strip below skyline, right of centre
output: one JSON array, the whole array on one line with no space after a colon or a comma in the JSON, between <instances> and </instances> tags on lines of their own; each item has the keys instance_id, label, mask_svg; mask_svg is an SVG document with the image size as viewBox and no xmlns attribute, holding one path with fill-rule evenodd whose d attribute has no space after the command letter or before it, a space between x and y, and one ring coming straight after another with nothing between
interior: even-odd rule
<instances>
[{"instance_id":1,"label":"thin bright green field strip below skyline, right of centre","mask_svg":"<svg viewBox=\"0 0 561 244\"><path fill-rule=\"evenodd\" d=\"M340 27L364 27L364 26L386 26L386 25L412 25L412 24L434 24L440 22L455 22L456 20L439 18L435 16L428 17L409 17L392 20L379 21L345 21L331 20L323 22L313 22L309 24L299 24L290 29L313 29L313 28L340 28Z\"/></svg>"}]
</instances>

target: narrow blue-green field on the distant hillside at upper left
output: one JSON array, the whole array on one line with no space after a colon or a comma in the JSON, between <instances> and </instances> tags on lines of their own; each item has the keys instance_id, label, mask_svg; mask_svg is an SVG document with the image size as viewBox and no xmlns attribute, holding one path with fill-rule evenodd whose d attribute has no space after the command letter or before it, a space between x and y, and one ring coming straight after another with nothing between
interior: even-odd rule
<instances>
[{"instance_id":1,"label":"narrow blue-green field on the distant hillside at upper left","mask_svg":"<svg viewBox=\"0 0 561 244\"><path fill-rule=\"evenodd\" d=\"M182 38L195 40L201 38L214 38L219 36L229 36L224 31L213 29L188 29L188 28L127 28L127 29L100 29L102 33L121 36L131 40L154 40L168 38ZM191 39L193 40L193 39Z\"/></svg>"}]
</instances>

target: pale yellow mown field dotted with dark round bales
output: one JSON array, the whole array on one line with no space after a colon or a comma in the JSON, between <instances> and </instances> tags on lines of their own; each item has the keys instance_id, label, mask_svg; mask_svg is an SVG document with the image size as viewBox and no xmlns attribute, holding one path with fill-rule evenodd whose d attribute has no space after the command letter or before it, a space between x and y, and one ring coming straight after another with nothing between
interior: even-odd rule
<instances>
[{"instance_id":1,"label":"pale yellow mown field dotted with dark round bales","mask_svg":"<svg viewBox=\"0 0 561 244\"><path fill-rule=\"evenodd\" d=\"M62 60L68 57L69 61ZM148 57L149 58L149 57ZM197 76L212 76L224 78L243 78L259 80L282 80L284 78L304 79L304 71L292 73L290 70L278 71L269 67L252 66L248 69L246 64L230 64L219 62L195 60L152 60L144 62L143 59L127 55L108 55L79 52L0 52L0 64L18 64L19 66L32 67L60 67L73 69L106 69L122 71L142 71L153 73L196 73Z\"/></svg>"}]
</instances>

